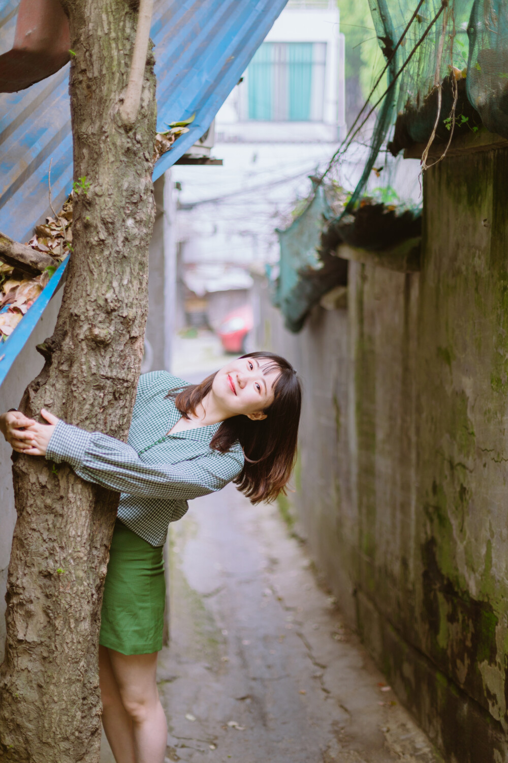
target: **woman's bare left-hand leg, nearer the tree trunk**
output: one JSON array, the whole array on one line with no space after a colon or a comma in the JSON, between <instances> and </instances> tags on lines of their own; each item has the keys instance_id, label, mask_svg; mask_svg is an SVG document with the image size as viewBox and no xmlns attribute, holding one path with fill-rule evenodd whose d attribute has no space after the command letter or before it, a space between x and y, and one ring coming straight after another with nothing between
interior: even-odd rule
<instances>
[{"instance_id":1,"label":"woman's bare left-hand leg, nearer the tree trunk","mask_svg":"<svg viewBox=\"0 0 508 763\"><path fill-rule=\"evenodd\" d=\"M111 668L109 649L99 646L102 725L117 763L136 763L133 722L123 707L117 679Z\"/></svg>"}]
</instances>

